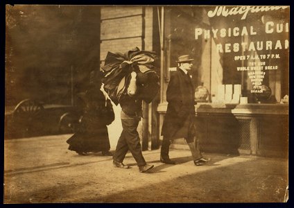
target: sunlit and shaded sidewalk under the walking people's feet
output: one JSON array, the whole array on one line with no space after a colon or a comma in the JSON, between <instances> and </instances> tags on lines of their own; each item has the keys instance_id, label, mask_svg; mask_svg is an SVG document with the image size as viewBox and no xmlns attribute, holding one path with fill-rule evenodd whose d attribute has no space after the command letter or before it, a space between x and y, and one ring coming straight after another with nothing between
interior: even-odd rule
<instances>
[{"instance_id":1,"label":"sunlit and shaded sidewalk under the walking people's feet","mask_svg":"<svg viewBox=\"0 0 294 208\"><path fill-rule=\"evenodd\" d=\"M189 150L171 150L177 164L159 162L159 150L144 151L150 173L114 168L101 153L67 150L70 135L5 141L4 203L50 202L283 202L288 160L205 154L195 166Z\"/></svg>"}]
</instances>

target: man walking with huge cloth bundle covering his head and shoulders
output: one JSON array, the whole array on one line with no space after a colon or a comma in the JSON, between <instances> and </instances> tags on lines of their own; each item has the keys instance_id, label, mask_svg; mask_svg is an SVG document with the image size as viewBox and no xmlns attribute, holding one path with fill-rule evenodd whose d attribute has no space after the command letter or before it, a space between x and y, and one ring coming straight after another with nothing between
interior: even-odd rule
<instances>
[{"instance_id":1,"label":"man walking with huge cloth bundle covering his head and shoulders","mask_svg":"<svg viewBox=\"0 0 294 208\"><path fill-rule=\"evenodd\" d=\"M142 155L137 127L142 116L142 101L150 103L159 88L158 85L157 90L146 90L148 86L150 88L157 86L158 77L152 69L154 60L154 53L139 51L136 48L125 55L109 52L105 66L102 67L103 71L107 72L104 79L105 91L110 94L113 101L121 105L123 131L113 155L115 167L130 168L123 164L123 159L130 150L141 173L153 168L153 165L146 164ZM144 92L152 92L152 94L146 95Z\"/></svg>"}]
</instances>

